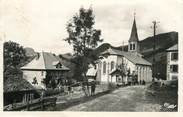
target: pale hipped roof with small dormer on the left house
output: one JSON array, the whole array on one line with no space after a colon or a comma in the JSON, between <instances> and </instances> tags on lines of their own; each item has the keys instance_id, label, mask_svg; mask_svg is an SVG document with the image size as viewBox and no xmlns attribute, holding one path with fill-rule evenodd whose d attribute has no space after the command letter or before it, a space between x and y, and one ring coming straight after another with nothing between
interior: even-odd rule
<instances>
[{"instance_id":1,"label":"pale hipped roof with small dormer on the left house","mask_svg":"<svg viewBox=\"0 0 183 117\"><path fill-rule=\"evenodd\" d=\"M61 64L61 67L56 67L56 64ZM69 70L64 66L58 56L48 53L41 52L31 62L21 67L22 70Z\"/></svg>"}]
</instances>

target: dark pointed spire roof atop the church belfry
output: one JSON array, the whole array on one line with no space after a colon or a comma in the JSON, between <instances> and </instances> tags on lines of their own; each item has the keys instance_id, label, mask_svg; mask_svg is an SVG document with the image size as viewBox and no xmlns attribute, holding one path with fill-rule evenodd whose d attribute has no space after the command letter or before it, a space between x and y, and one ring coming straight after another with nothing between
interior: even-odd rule
<instances>
[{"instance_id":1,"label":"dark pointed spire roof atop the church belfry","mask_svg":"<svg viewBox=\"0 0 183 117\"><path fill-rule=\"evenodd\" d=\"M139 41L135 18L133 21L133 26L132 26L129 42L134 42L134 41Z\"/></svg>"}]
</instances>

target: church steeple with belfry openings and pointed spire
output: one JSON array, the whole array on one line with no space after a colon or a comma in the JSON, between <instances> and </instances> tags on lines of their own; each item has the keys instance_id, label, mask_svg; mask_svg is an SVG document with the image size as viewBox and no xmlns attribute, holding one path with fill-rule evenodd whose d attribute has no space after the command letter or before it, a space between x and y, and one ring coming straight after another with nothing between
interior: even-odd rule
<instances>
[{"instance_id":1,"label":"church steeple with belfry openings and pointed spire","mask_svg":"<svg viewBox=\"0 0 183 117\"><path fill-rule=\"evenodd\" d=\"M138 52L139 51L139 38L137 33L137 26L136 26L136 20L135 20L135 13L134 13L134 20L133 20L133 26L131 30L130 39L128 40L128 51L129 52Z\"/></svg>"}]
</instances>

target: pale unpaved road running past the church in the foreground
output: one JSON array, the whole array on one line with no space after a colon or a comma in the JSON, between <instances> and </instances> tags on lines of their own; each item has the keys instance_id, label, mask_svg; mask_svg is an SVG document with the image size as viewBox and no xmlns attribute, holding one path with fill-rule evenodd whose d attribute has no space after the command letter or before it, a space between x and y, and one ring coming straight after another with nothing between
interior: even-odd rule
<instances>
[{"instance_id":1,"label":"pale unpaved road running past the church in the foreground","mask_svg":"<svg viewBox=\"0 0 183 117\"><path fill-rule=\"evenodd\" d=\"M119 88L109 94L69 107L64 111L159 111L154 98L146 97L145 86ZM57 111L59 105L57 105Z\"/></svg>"}]
</instances>

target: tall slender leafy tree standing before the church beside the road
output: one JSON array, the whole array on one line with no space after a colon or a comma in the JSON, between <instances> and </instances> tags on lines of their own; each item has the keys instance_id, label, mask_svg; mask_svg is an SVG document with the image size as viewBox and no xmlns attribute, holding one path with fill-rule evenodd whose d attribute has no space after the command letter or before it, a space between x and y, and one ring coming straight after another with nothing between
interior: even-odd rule
<instances>
[{"instance_id":1,"label":"tall slender leafy tree standing before the church beside the road","mask_svg":"<svg viewBox=\"0 0 183 117\"><path fill-rule=\"evenodd\" d=\"M65 41L73 45L74 54L79 58L77 59L79 63L78 68L80 68L81 76L83 76L83 80L86 82L88 82L86 71L88 70L88 62L90 59L89 52L103 41L100 38L101 30L95 29L93 27L94 24L93 9L80 8L79 14L74 15L66 27L69 35Z\"/></svg>"}]
</instances>

